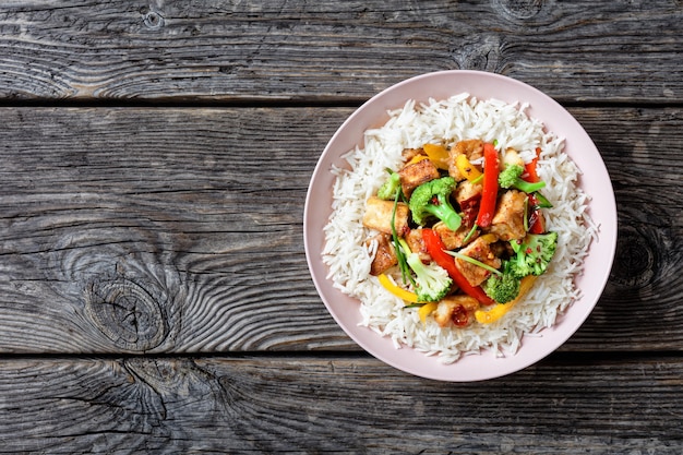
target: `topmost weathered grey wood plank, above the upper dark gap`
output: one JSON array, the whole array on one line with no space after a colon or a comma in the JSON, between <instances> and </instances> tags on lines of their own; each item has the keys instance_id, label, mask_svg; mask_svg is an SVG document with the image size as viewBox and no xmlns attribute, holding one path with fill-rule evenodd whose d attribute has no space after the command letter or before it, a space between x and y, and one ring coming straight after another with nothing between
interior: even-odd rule
<instances>
[{"instance_id":1,"label":"topmost weathered grey wood plank, above the upper dark gap","mask_svg":"<svg viewBox=\"0 0 683 455\"><path fill-rule=\"evenodd\" d=\"M348 103L475 69L563 101L680 103L682 24L673 0L12 1L0 98Z\"/></svg>"}]
</instances>

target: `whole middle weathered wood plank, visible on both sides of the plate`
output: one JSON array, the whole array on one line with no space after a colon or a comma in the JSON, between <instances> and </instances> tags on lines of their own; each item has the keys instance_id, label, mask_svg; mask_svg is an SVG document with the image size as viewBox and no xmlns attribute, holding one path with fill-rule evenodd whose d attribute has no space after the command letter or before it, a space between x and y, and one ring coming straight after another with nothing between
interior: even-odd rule
<instances>
[{"instance_id":1,"label":"whole middle weathered wood plank, visible on both sides of the plate","mask_svg":"<svg viewBox=\"0 0 683 455\"><path fill-rule=\"evenodd\" d=\"M572 109L620 211L567 350L680 350L679 109ZM308 274L308 182L348 108L0 109L0 351L358 349Z\"/></svg>"}]
</instances>

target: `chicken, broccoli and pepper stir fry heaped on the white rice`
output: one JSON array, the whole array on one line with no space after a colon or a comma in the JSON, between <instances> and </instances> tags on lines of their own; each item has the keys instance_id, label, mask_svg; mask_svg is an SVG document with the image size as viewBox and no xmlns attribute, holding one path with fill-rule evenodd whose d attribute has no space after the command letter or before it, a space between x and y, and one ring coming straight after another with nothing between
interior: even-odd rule
<instances>
[{"instance_id":1,"label":"chicken, broccoli and pepper stir fry heaped on the white rice","mask_svg":"<svg viewBox=\"0 0 683 455\"><path fill-rule=\"evenodd\" d=\"M558 234L546 230L537 157L480 140L405 149L366 204L376 231L370 273L442 327L492 323L542 275Z\"/></svg>"}]
</instances>

